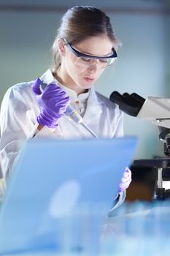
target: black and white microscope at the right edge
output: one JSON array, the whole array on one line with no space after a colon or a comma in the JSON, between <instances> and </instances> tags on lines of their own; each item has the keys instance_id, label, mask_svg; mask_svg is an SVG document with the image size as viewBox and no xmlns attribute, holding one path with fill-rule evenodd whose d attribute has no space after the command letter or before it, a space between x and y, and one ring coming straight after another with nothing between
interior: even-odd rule
<instances>
[{"instance_id":1,"label":"black and white microscope at the right edge","mask_svg":"<svg viewBox=\"0 0 170 256\"><path fill-rule=\"evenodd\" d=\"M163 181L170 181L170 99L147 97L144 99L136 93L120 94L113 91L109 99L119 105L124 113L152 121L159 129L159 139L163 140L165 158L137 159L135 166L152 167L157 170L155 197L158 200L170 198L170 189L163 188Z\"/></svg>"}]
</instances>

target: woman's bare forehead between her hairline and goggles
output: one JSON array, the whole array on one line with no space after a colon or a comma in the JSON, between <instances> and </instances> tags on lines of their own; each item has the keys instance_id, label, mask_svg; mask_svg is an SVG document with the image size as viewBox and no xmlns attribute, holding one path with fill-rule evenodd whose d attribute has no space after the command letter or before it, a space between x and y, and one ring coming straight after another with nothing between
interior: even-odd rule
<instances>
[{"instance_id":1,"label":"woman's bare forehead between her hairline and goggles","mask_svg":"<svg viewBox=\"0 0 170 256\"><path fill-rule=\"evenodd\" d=\"M88 37L77 42L77 50L94 56L102 56L111 53L114 47L113 42L107 36Z\"/></svg>"}]
</instances>

